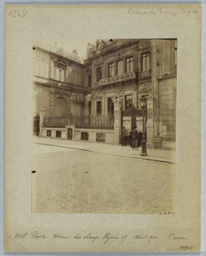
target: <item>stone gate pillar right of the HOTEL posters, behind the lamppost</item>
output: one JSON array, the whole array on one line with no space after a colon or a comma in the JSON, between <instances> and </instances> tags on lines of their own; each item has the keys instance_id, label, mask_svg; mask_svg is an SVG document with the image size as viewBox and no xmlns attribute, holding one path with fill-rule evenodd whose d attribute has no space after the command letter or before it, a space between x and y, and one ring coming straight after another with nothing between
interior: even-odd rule
<instances>
[{"instance_id":1,"label":"stone gate pillar right of the HOTEL posters, behind the lamppost","mask_svg":"<svg viewBox=\"0 0 206 256\"><path fill-rule=\"evenodd\" d=\"M153 137L153 96L147 98L147 143L152 144Z\"/></svg>"}]
</instances>

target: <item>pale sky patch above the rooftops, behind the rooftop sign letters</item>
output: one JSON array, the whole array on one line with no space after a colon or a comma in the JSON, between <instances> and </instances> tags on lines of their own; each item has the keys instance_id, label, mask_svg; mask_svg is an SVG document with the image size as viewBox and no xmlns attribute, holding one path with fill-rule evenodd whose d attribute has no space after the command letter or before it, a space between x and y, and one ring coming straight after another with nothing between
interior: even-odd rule
<instances>
[{"instance_id":1,"label":"pale sky patch above the rooftops, behind the rooftop sign letters","mask_svg":"<svg viewBox=\"0 0 206 256\"><path fill-rule=\"evenodd\" d=\"M74 49L77 49L78 56L86 58L87 43L94 44L97 39L74 39L74 40L42 40L54 46L54 42L57 42L57 47L60 47L63 43L63 49L72 53Z\"/></svg>"}]
</instances>

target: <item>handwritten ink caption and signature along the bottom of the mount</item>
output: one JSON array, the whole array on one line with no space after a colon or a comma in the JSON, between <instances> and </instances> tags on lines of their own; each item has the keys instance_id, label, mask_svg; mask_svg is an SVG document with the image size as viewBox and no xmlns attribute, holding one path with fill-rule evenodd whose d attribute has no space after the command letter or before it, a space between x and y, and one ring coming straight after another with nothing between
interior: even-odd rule
<instances>
[{"instance_id":1,"label":"handwritten ink caption and signature along the bottom of the mount","mask_svg":"<svg viewBox=\"0 0 206 256\"><path fill-rule=\"evenodd\" d=\"M73 239L76 241L80 240L87 240L88 242L95 243L97 241L101 241L104 244L107 244L111 241L113 242L119 242L119 243L125 243L128 239L132 239L134 241L144 241L145 243L151 243L156 242L159 239L158 235L151 235L151 234L136 234L136 235L128 235L128 234L112 234L111 232L107 232L106 234L100 235L95 234L92 232L88 232L87 234L63 234L63 233L55 233L52 235L49 234L43 234L39 231L33 231L31 233L25 232L25 233L17 233L14 235L14 238L31 238L31 239ZM164 237L166 240L179 240L179 241L187 241L189 238L176 235L174 233L168 234L166 237ZM181 242L182 243L182 242ZM182 250L190 250L195 249L194 245L180 245L178 249Z\"/></svg>"}]
</instances>

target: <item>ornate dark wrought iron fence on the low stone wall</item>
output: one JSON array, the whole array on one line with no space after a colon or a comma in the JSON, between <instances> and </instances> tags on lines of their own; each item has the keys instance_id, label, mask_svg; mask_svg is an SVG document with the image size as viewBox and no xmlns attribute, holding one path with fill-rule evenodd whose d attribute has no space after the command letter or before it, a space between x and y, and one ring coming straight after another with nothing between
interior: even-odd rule
<instances>
[{"instance_id":1,"label":"ornate dark wrought iron fence on the low stone wall","mask_svg":"<svg viewBox=\"0 0 206 256\"><path fill-rule=\"evenodd\" d=\"M68 115L68 116L44 116L44 127L62 127L74 125L76 128L114 130L113 115Z\"/></svg>"}]
</instances>

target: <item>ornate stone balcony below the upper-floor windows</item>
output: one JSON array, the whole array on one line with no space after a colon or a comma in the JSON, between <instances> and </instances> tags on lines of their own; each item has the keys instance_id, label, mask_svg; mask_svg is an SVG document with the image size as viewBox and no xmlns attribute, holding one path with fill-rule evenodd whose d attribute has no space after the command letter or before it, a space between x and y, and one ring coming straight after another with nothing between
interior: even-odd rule
<instances>
[{"instance_id":1,"label":"ornate stone balcony below the upper-floor windows","mask_svg":"<svg viewBox=\"0 0 206 256\"><path fill-rule=\"evenodd\" d=\"M124 81L132 80L135 78L136 78L135 72L125 73L125 74L117 75L114 77L103 78L99 81L99 86L107 85L107 84L114 84L114 83L118 83L118 82L124 82Z\"/></svg>"}]
</instances>

